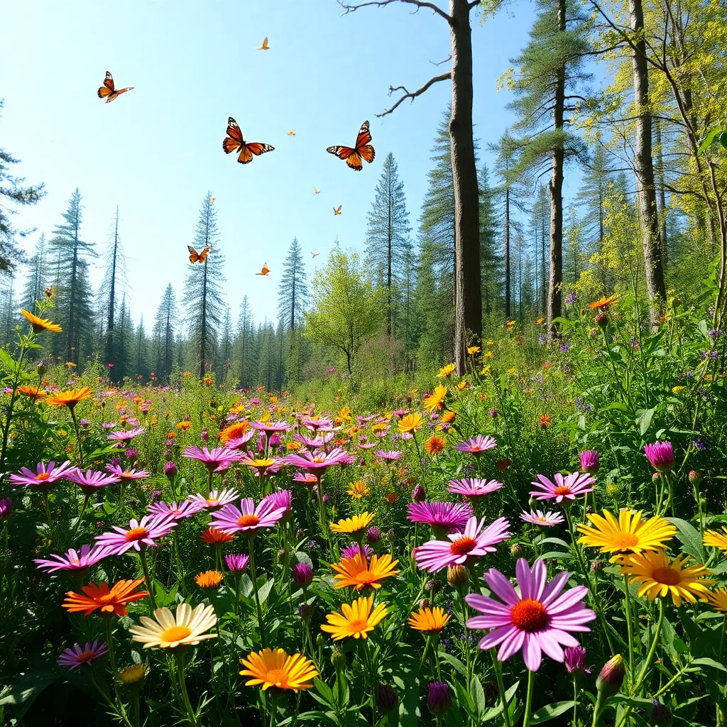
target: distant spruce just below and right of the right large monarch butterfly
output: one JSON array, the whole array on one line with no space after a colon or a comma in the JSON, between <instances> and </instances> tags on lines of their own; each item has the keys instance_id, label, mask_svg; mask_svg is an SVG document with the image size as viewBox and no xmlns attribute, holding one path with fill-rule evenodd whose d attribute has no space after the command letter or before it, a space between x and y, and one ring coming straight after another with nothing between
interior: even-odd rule
<instances>
[{"instance_id":1,"label":"distant spruce just below and right of the right large monarch butterfly","mask_svg":"<svg viewBox=\"0 0 727 727\"><path fill-rule=\"evenodd\" d=\"M381 276L386 291L386 333L391 336L404 261L411 248L411 227L404 185L399 179L398 167L391 152L384 160L375 194L366 228L366 260Z\"/></svg>"}]
</instances>

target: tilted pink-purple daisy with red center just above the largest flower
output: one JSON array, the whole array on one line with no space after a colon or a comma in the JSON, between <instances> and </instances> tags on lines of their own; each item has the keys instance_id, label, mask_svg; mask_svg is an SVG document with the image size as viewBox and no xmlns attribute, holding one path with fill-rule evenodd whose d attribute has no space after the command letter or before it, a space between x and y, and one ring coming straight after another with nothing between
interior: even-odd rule
<instances>
[{"instance_id":1,"label":"tilted pink-purple daisy with red center just above the largest flower","mask_svg":"<svg viewBox=\"0 0 727 727\"><path fill-rule=\"evenodd\" d=\"M510 523L507 518L498 518L486 528L484 525L485 518L478 522L473 515L464 532L449 534L447 540L430 540L414 548L417 566L434 573L447 566L464 566L473 558L494 553L497 550L494 545L510 537Z\"/></svg>"}]
</instances>

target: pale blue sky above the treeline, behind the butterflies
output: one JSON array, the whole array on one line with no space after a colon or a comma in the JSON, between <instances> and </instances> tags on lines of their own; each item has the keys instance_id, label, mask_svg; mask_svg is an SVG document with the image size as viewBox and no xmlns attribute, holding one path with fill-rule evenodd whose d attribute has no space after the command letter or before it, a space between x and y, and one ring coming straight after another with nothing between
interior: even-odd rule
<instances>
[{"instance_id":1,"label":"pale blue sky above the treeline, behind the butterflies","mask_svg":"<svg viewBox=\"0 0 727 727\"><path fill-rule=\"evenodd\" d=\"M473 14L481 148L512 123L510 95L497 92L496 79L526 43L533 17L522 1L483 25ZM294 236L309 275L336 237L364 248L366 212L389 151L416 229L451 87L436 84L385 119L375 114L390 105L390 84L416 89L443 70L430 62L449 55L449 28L426 9L412 14L393 4L342 15L335 0L16 2L4 5L3 25L1 144L22 160L15 172L45 182L48 192L15 218L38 228L24 246L30 252L39 233L49 236L78 187L84 239L101 252L118 204L136 320L143 314L150 323L169 282L181 297L186 246L208 189L235 319L244 294L256 321L276 315ZM271 49L257 51L265 36ZM116 87L134 87L111 104L96 95L107 70ZM246 140L276 150L245 166L226 156L228 116ZM353 172L326 147L352 145L365 119L377 158ZM311 250L323 254L313 262ZM254 276L263 262L268 278ZM95 282L101 276L95 270Z\"/></svg>"}]
</instances>

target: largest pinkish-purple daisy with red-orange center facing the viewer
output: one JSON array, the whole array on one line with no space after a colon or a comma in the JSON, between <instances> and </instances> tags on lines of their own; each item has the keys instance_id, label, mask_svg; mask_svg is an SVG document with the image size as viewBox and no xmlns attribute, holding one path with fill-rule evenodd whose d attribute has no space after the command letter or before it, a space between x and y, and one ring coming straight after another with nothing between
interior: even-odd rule
<instances>
[{"instance_id":1,"label":"largest pinkish-purple daisy with red-orange center facing the viewer","mask_svg":"<svg viewBox=\"0 0 727 727\"><path fill-rule=\"evenodd\" d=\"M497 658L507 661L516 651L522 651L525 666L537 672L542 652L556 662L563 662L562 646L578 646L569 631L590 631L585 624L595 619L595 613L586 608L583 599L588 592L585 586L577 586L562 593L569 574L558 574L547 583L547 570L543 561L535 561L532 570L525 558L515 566L518 590L510 581L492 568L485 573L490 590L504 603L494 598L470 593L465 597L467 605L481 611L483 616L473 616L467 621L470 629L491 629L480 640L480 648L500 646Z\"/></svg>"}]
</instances>

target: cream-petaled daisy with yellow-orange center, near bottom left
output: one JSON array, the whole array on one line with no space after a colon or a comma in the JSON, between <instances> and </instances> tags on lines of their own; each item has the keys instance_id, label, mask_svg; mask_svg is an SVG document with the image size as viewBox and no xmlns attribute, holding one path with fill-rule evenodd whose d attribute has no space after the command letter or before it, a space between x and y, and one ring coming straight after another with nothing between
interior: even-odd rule
<instances>
[{"instance_id":1,"label":"cream-petaled daisy with yellow-orange center, near bottom left","mask_svg":"<svg viewBox=\"0 0 727 727\"><path fill-rule=\"evenodd\" d=\"M154 620L156 619L156 620ZM200 641L217 638L217 634L205 633L217 623L212 606L200 603L192 608L188 603L177 606L176 619L169 608L157 608L154 619L142 616L143 626L132 626L129 632L134 641L140 641L144 648L169 648L172 651L196 646Z\"/></svg>"}]
</instances>

